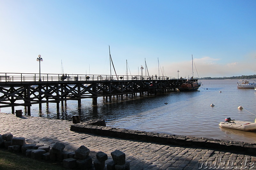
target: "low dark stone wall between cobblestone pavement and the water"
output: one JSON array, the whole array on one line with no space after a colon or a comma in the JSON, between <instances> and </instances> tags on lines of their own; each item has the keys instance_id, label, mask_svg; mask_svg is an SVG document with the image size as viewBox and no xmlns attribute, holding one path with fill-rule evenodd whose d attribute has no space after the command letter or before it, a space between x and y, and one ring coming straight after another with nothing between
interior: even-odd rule
<instances>
[{"instance_id":1,"label":"low dark stone wall between cobblestone pavement and the water","mask_svg":"<svg viewBox=\"0 0 256 170\"><path fill-rule=\"evenodd\" d=\"M86 133L93 133L109 137L118 137L131 140L140 140L146 142L156 142L162 144L174 144L189 147L206 147L214 149L228 149L233 151L244 151L247 153L256 152L256 144L219 140L204 137L187 137L181 135L170 135L166 133L153 133L140 130L129 130L121 128L112 128L107 126L95 126L86 122L71 125L70 130Z\"/></svg>"}]
</instances>

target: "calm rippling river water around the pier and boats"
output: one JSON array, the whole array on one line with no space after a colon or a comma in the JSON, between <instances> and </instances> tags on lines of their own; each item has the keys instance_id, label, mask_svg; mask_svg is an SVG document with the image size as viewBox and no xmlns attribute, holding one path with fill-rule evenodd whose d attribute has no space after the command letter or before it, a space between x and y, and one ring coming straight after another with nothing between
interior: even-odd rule
<instances>
[{"instance_id":1,"label":"calm rippling river water around the pier and boats","mask_svg":"<svg viewBox=\"0 0 256 170\"><path fill-rule=\"evenodd\" d=\"M77 101L67 101L67 105L60 108L60 114L53 103L49 103L48 108L43 104L42 111L38 105L32 105L31 115L72 120L72 115L81 114L83 121L100 118L111 127L255 143L256 132L220 128L218 124L226 117L254 122L256 91L237 89L238 80L201 82L200 92L171 92L149 97L146 94L133 99L128 96L124 101L119 97L112 98L111 102L100 97L97 106L92 105L92 99L84 99L81 108L77 107ZM211 107L211 103L215 106ZM240 105L255 115L237 109ZM24 107L15 107L18 109L25 113ZM11 109L1 108L1 112L11 113Z\"/></svg>"}]
</instances>

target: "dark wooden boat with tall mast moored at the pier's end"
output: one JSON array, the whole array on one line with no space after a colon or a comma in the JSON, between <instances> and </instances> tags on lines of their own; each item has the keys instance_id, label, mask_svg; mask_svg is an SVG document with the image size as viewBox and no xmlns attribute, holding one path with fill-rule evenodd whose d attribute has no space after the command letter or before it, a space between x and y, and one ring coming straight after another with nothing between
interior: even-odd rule
<instances>
[{"instance_id":1,"label":"dark wooden boat with tall mast moored at the pier's end","mask_svg":"<svg viewBox=\"0 0 256 170\"><path fill-rule=\"evenodd\" d=\"M187 79L186 83L183 83L179 86L179 91L197 91L201 86L201 83L197 82L197 79L194 79L193 74L193 55L192 55L192 77Z\"/></svg>"}]
</instances>

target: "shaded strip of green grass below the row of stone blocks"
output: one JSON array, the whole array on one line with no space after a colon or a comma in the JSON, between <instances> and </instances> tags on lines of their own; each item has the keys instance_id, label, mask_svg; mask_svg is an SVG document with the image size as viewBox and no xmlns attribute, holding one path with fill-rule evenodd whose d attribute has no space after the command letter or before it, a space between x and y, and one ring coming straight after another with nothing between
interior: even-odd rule
<instances>
[{"instance_id":1,"label":"shaded strip of green grass below the row of stone blocks","mask_svg":"<svg viewBox=\"0 0 256 170\"><path fill-rule=\"evenodd\" d=\"M22 154L15 154L8 152L7 150L0 149L0 169L26 169L26 170L35 170L35 169L46 169L46 170L60 170L63 168L58 162L35 160L28 157L25 157Z\"/></svg>"}]
</instances>

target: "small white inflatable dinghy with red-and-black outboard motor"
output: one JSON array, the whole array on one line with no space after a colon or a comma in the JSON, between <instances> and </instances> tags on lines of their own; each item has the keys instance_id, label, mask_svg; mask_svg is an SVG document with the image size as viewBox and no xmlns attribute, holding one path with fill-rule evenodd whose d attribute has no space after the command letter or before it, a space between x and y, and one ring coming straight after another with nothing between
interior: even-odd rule
<instances>
[{"instance_id":1,"label":"small white inflatable dinghy with red-and-black outboard motor","mask_svg":"<svg viewBox=\"0 0 256 170\"><path fill-rule=\"evenodd\" d=\"M245 121L235 121L231 120L230 117L225 119L225 122L219 123L220 127L237 129L237 130L256 130L256 119L254 122L245 122Z\"/></svg>"}]
</instances>

